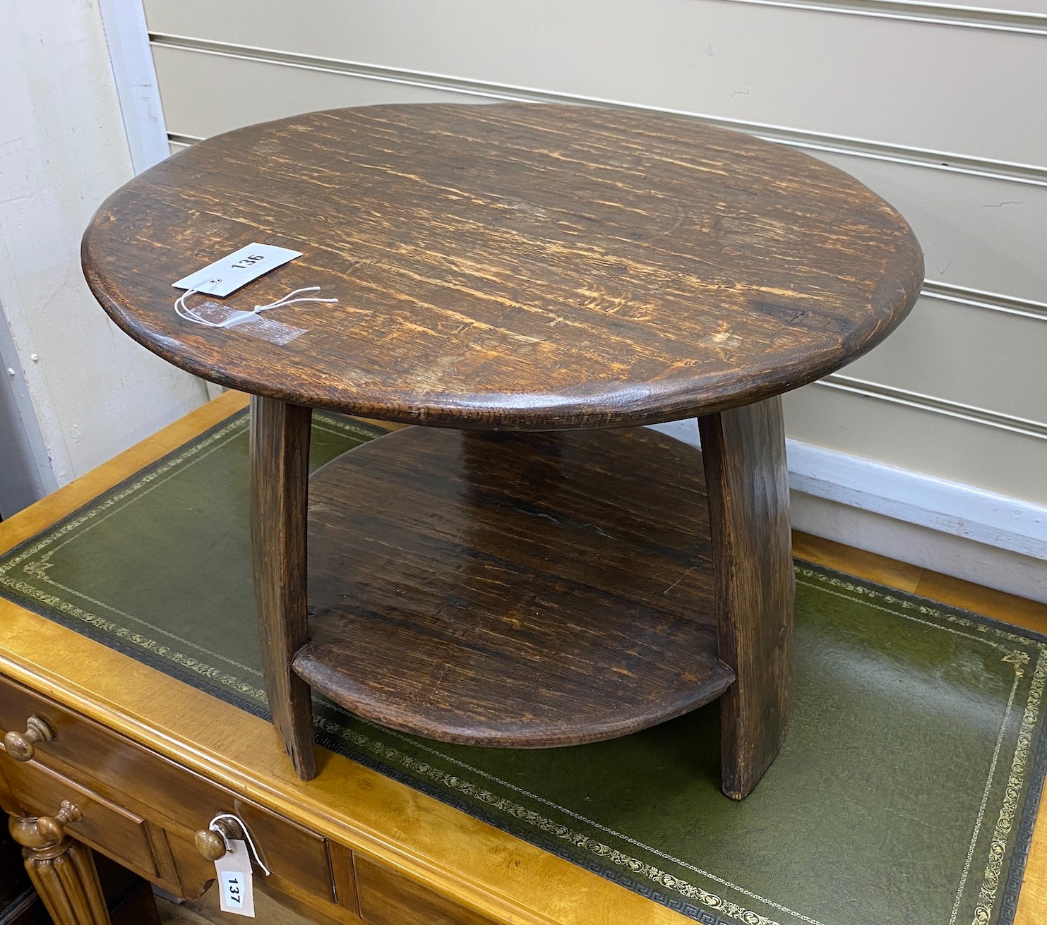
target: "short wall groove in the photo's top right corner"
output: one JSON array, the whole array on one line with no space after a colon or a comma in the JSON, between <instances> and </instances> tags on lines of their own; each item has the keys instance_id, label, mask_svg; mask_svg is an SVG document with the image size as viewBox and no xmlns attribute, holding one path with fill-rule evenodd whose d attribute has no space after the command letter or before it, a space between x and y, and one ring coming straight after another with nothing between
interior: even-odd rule
<instances>
[{"instance_id":1,"label":"short wall groove in the photo's top right corner","mask_svg":"<svg viewBox=\"0 0 1047 925\"><path fill-rule=\"evenodd\" d=\"M907 0L728 0L758 6L783 6L818 13L839 13L845 16L867 16L875 19L907 20L940 26L968 29L989 29L1000 32L1022 32L1047 36L1047 16L1012 9L990 9L984 6L962 6L956 3L917 3Z\"/></svg>"}]
</instances>

